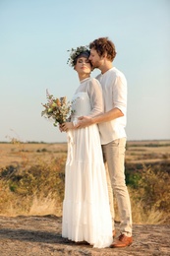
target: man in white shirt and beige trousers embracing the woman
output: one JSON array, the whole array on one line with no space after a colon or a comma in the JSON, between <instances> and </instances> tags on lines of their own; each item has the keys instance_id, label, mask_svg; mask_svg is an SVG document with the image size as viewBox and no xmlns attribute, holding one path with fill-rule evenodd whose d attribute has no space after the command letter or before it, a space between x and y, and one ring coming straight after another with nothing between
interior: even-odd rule
<instances>
[{"instance_id":1,"label":"man in white shirt and beige trousers embracing the woman","mask_svg":"<svg viewBox=\"0 0 170 256\"><path fill-rule=\"evenodd\" d=\"M89 48L89 60L93 68L101 71L96 79L102 87L105 112L92 118L80 117L77 127L83 128L94 123L98 124L103 158L108 166L111 187L117 198L121 218L121 234L110 247L126 247L133 242L131 202L125 182L127 81L123 73L112 64L116 49L108 37L93 40ZM110 202L110 205L113 205L113 202ZM112 219L114 219L114 210L111 209L111 212Z\"/></svg>"}]
</instances>

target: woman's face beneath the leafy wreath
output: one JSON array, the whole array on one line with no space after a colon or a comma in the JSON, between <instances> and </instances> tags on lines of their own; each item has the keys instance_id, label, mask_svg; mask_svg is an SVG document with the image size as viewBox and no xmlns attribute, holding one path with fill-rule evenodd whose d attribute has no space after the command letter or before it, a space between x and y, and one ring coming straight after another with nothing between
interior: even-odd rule
<instances>
[{"instance_id":1,"label":"woman's face beneath the leafy wreath","mask_svg":"<svg viewBox=\"0 0 170 256\"><path fill-rule=\"evenodd\" d=\"M91 72L91 64L86 57L80 57L75 65L75 70L79 74L89 74Z\"/></svg>"}]
</instances>

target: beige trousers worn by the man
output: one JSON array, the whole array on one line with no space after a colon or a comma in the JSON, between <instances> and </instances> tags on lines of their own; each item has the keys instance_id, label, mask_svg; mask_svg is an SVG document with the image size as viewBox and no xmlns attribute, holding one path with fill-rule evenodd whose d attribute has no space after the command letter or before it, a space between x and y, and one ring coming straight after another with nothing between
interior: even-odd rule
<instances>
[{"instance_id":1,"label":"beige trousers worn by the man","mask_svg":"<svg viewBox=\"0 0 170 256\"><path fill-rule=\"evenodd\" d=\"M129 192L125 182L125 147L126 138L117 139L102 145L103 159L106 166L108 193L112 225L114 227L113 191L117 199L121 219L120 231L127 236L132 235L132 212Z\"/></svg>"}]
</instances>

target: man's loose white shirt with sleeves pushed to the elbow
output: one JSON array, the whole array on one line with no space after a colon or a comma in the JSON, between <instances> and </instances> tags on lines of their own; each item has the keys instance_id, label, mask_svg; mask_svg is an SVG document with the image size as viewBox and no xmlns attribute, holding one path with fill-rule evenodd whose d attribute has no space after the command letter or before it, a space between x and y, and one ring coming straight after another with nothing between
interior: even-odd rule
<instances>
[{"instance_id":1,"label":"man's loose white shirt with sleeves pushed to the elbow","mask_svg":"<svg viewBox=\"0 0 170 256\"><path fill-rule=\"evenodd\" d=\"M104 145L126 137L127 80L124 74L115 67L98 75L96 79L102 87L104 112L119 108L124 114L122 117L98 124L101 144Z\"/></svg>"}]
</instances>

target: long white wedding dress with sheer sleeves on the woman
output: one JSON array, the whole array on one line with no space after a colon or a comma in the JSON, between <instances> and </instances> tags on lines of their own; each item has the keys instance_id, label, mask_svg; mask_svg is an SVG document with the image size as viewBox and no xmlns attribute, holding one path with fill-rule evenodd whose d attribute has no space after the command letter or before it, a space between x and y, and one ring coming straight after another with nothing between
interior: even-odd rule
<instances>
[{"instance_id":1,"label":"long white wedding dress with sheer sleeves on the woman","mask_svg":"<svg viewBox=\"0 0 170 256\"><path fill-rule=\"evenodd\" d=\"M73 98L71 120L101 112L102 93L95 79L85 79ZM112 243L106 173L97 125L68 132L62 236L93 247Z\"/></svg>"}]
</instances>

